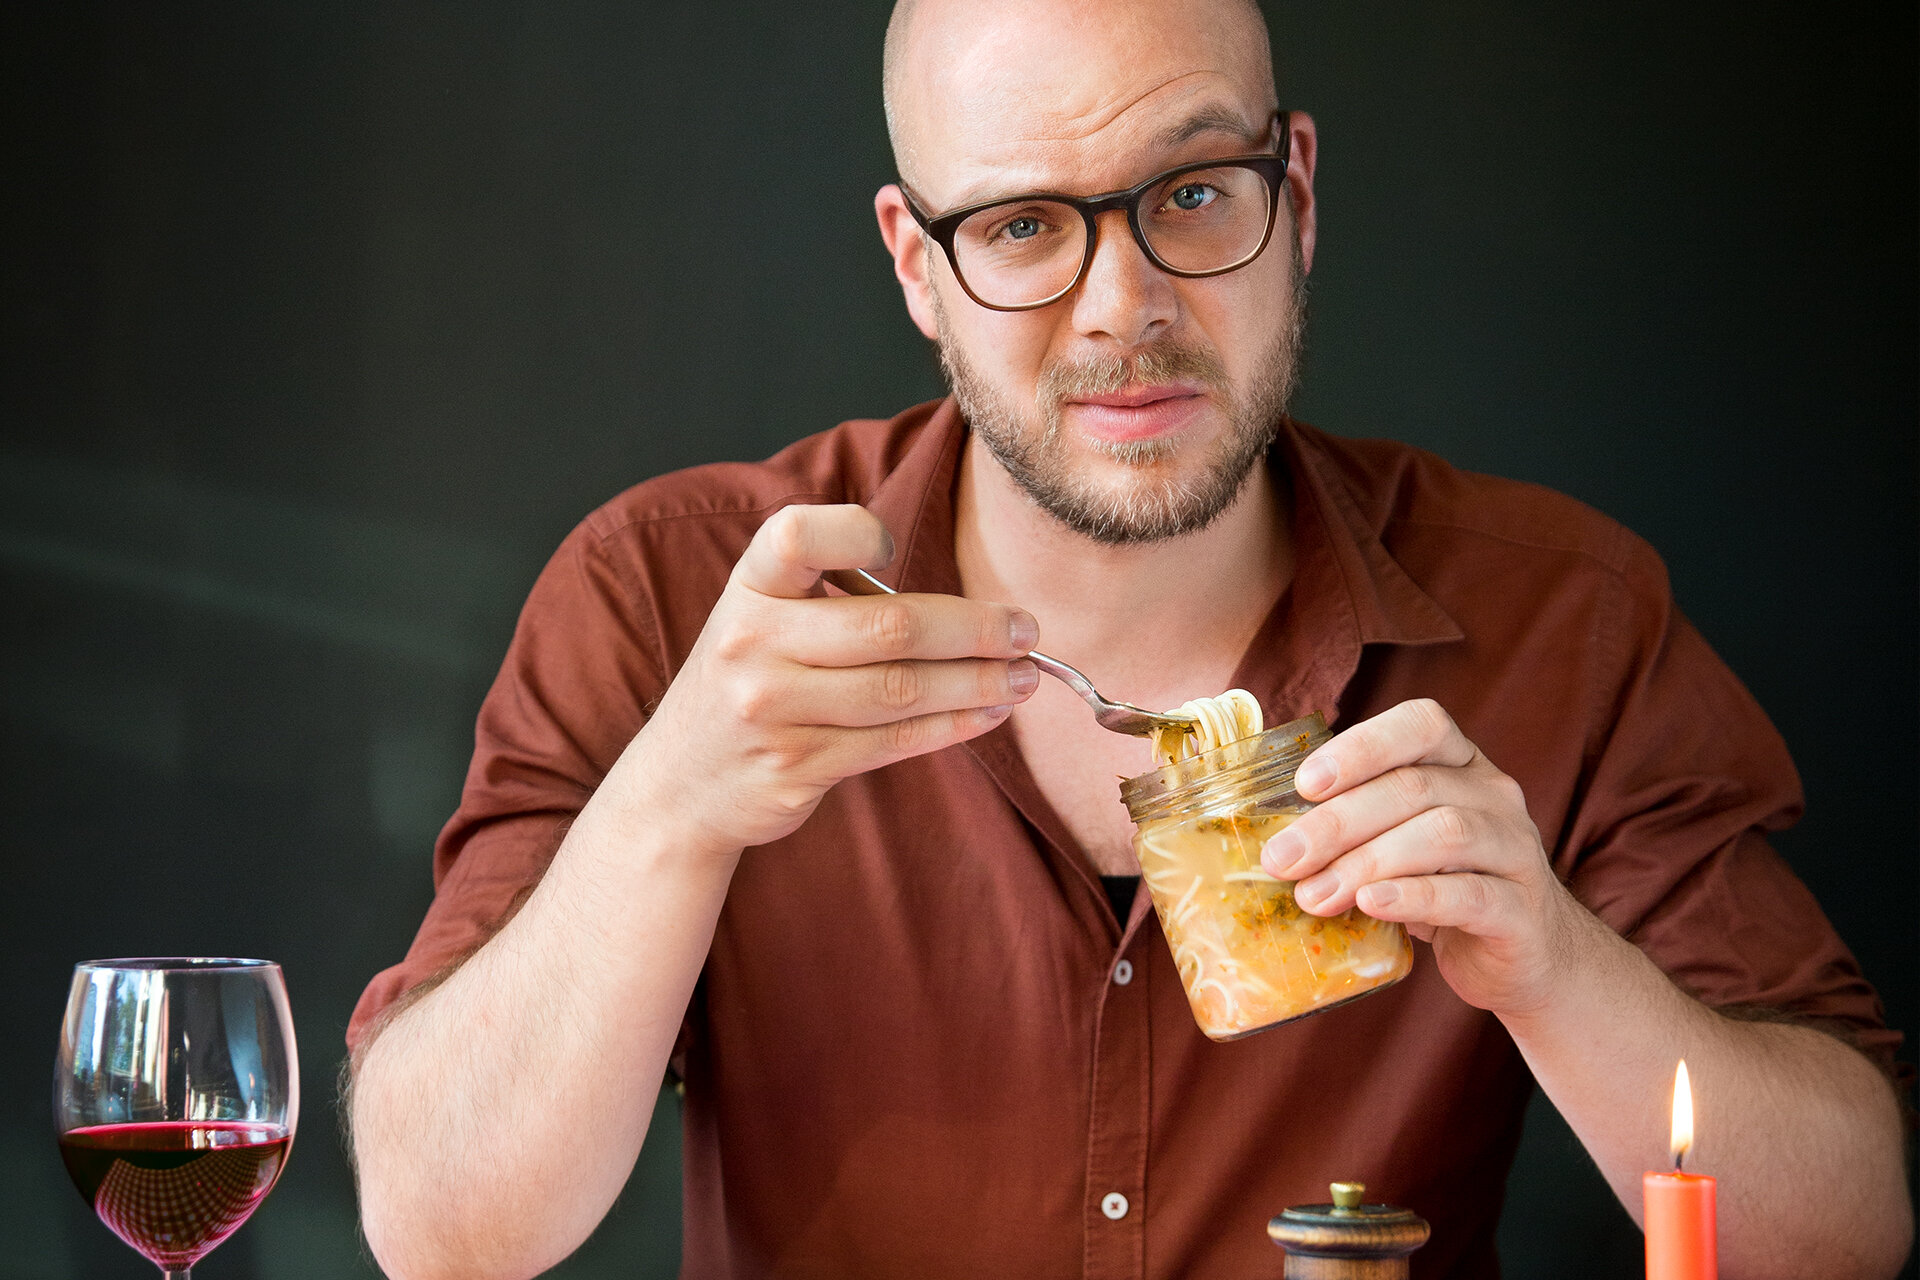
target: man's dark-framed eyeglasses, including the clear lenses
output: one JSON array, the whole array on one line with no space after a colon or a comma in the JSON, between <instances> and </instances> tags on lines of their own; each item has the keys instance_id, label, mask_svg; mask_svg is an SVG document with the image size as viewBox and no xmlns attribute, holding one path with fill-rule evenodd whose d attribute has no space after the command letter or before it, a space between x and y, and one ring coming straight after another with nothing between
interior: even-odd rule
<instances>
[{"instance_id":1,"label":"man's dark-framed eyeglasses, including the clear lenses","mask_svg":"<svg viewBox=\"0 0 1920 1280\"><path fill-rule=\"evenodd\" d=\"M1260 257L1273 236L1292 148L1286 111L1279 132L1271 154L1181 165L1123 192L1008 196L939 217L908 192L906 207L945 249L968 297L995 311L1031 311L1068 296L1092 263L1094 219L1116 209L1125 209L1135 244L1167 274L1219 276Z\"/></svg>"}]
</instances>

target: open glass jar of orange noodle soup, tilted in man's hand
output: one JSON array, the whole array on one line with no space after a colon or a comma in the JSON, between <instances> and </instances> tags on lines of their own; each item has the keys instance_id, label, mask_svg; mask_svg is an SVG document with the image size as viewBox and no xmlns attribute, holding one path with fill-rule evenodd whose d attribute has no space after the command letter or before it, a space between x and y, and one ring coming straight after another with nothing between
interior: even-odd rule
<instances>
[{"instance_id":1,"label":"open glass jar of orange noodle soup, tilted in man's hand","mask_svg":"<svg viewBox=\"0 0 1920 1280\"><path fill-rule=\"evenodd\" d=\"M1352 908L1308 915L1260 848L1311 804L1294 770L1329 739L1319 712L1129 777L1133 852L1194 1021L1236 1040L1392 986L1413 967L1398 923Z\"/></svg>"}]
</instances>

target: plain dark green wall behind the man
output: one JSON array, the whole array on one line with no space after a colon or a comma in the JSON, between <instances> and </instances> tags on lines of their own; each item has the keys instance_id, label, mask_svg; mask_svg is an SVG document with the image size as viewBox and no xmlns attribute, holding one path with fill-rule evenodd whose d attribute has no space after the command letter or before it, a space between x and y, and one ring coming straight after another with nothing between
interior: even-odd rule
<instances>
[{"instance_id":1,"label":"plain dark green wall behind the man","mask_svg":"<svg viewBox=\"0 0 1920 1280\"><path fill-rule=\"evenodd\" d=\"M1651 537L1914 1029L1912 6L1269 12L1323 140L1300 415ZM361 1274L340 1032L545 555L636 480L937 391L870 213L885 8L0 21L0 1274L150 1274L48 1117L67 967L140 952L282 960L303 1036L300 1150L204 1280ZM563 1274L670 1274L676 1128ZM1638 1274L1544 1105L1513 1192L1515 1274Z\"/></svg>"}]
</instances>

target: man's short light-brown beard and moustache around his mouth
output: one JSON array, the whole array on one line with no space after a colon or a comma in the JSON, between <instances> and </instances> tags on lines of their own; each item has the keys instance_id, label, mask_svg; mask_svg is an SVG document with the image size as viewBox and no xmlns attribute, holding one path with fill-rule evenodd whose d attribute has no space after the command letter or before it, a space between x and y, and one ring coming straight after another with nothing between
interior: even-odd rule
<instances>
[{"instance_id":1,"label":"man's short light-brown beard and moustache around his mouth","mask_svg":"<svg viewBox=\"0 0 1920 1280\"><path fill-rule=\"evenodd\" d=\"M1075 533L1112 547L1150 543L1204 530L1233 507L1254 464L1281 430L1286 403L1300 372L1306 334L1306 273L1300 244L1292 246L1288 313L1273 342L1260 353L1246 388L1235 388L1213 347L1164 338L1135 355L1096 355L1081 361L1048 361L1041 368L1033 411L1000 393L966 359L939 294L941 368L960 413L1014 484L1046 514ZM1198 382L1215 393L1227 413L1227 432L1190 474L1173 472L1181 447L1171 439L1089 441L1133 476L1100 486L1075 474L1062 428L1064 407L1081 395L1112 395L1129 386Z\"/></svg>"}]
</instances>

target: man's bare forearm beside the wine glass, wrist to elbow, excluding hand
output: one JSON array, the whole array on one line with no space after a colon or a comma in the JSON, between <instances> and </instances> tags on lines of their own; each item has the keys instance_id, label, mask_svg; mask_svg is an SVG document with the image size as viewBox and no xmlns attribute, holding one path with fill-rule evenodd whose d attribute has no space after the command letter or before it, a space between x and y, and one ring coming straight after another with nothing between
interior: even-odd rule
<instances>
[{"instance_id":1,"label":"man's bare forearm beside the wine glass, wrist to elbow, excluding hand","mask_svg":"<svg viewBox=\"0 0 1920 1280\"><path fill-rule=\"evenodd\" d=\"M361 1215L397 1280L545 1270L634 1167L737 852L689 850L626 773L526 906L355 1065Z\"/></svg>"}]
</instances>

